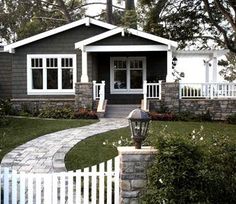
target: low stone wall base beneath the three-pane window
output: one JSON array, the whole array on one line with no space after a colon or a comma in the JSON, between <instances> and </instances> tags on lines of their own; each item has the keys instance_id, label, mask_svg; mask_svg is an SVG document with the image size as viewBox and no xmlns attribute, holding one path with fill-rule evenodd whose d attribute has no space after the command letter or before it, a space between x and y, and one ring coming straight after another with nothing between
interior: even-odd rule
<instances>
[{"instance_id":1,"label":"low stone wall base beneath the three-pane window","mask_svg":"<svg viewBox=\"0 0 236 204\"><path fill-rule=\"evenodd\" d=\"M13 108L16 111L29 110L30 112L40 111L45 108L58 107L63 108L65 106L74 107L74 98L50 98L50 99L11 99Z\"/></svg>"}]
</instances>

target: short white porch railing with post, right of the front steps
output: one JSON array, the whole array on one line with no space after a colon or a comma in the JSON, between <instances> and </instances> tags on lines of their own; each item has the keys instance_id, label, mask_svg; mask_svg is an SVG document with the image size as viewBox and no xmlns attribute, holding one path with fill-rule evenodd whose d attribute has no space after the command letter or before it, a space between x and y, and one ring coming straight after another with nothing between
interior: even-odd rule
<instances>
[{"instance_id":1,"label":"short white porch railing with post, right of the front steps","mask_svg":"<svg viewBox=\"0 0 236 204\"><path fill-rule=\"evenodd\" d=\"M161 100L161 83L161 80L158 83L147 83L147 81L143 82L144 110L148 110L148 99Z\"/></svg>"}]
</instances>

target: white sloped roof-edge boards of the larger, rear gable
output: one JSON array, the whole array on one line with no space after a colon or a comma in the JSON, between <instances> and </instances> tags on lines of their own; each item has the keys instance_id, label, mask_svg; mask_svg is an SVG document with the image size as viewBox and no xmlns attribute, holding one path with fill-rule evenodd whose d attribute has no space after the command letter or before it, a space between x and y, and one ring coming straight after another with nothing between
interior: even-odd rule
<instances>
[{"instance_id":1,"label":"white sloped roof-edge boards of the larger, rear gable","mask_svg":"<svg viewBox=\"0 0 236 204\"><path fill-rule=\"evenodd\" d=\"M52 29L52 30L49 30L49 31L31 36L29 38L20 40L18 42L12 43L10 45L6 45L4 47L4 51L13 52L13 50L17 47L32 43L34 41L37 41L37 40L40 40L40 39L43 39L43 38L46 38L46 37L49 37L49 36L52 36L52 35L55 35L55 34L58 34L58 33L61 33L63 31L75 28L77 26L81 26L83 24L86 25L86 26L89 26L90 24L94 24L94 25L97 25L97 26L100 26L100 27L103 27L103 28L107 28L107 29L116 28L116 26L114 26L114 25L104 23L102 21L98 21L98 20L95 20L95 19L90 19L90 18L87 17L87 18L84 18L84 19L81 19L81 20L78 20L78 21L60 26L58 28L55 28L55 29Z\"/></svg>"}]
</instances>

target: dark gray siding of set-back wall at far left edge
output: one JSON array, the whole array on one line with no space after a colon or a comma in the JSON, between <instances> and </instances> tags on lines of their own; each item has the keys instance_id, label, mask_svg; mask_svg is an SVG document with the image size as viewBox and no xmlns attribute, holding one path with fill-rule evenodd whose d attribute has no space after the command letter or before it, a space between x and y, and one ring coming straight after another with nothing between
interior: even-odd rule
<instances>
[{"instance_id":1,"label":"dark gray siding of set-back wall at far left edge","mask_svg":"<svg viewBox=\"0 0 236 204\"><path fill-rule=\"evenodd\" d=\"M0 52L0 98L11 98L12 55Z\"/></svg>"}]
</instances>

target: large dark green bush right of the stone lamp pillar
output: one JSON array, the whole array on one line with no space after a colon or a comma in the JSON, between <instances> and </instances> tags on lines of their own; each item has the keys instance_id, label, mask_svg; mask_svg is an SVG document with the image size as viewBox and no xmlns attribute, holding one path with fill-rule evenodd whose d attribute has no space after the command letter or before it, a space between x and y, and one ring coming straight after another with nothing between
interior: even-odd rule
<instances>
[{"instance_id":1,"label":"large dark green bush right of the stone lamp pillar","mask_svg":"<svg viewBox=\"0 0 236 204\"><path fill-rule=\"evenodd\" d=\"M204 137L161 131L151 141L159 152L148 169L144 203L236 203L236 145Z\"/></svg>"}]
</instances>

